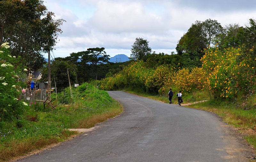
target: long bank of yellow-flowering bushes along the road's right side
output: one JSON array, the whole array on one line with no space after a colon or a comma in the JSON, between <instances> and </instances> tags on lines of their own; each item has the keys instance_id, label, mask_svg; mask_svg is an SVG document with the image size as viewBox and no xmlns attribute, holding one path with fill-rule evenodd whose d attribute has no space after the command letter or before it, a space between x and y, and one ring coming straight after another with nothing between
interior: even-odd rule
<instances>
[{"instance_id":1,"label":"long bank of yellow-flowering bushes along the road's right side","mask_svg":"<svg viewBox=\"0 0 256 162\"><path fill-rule=\"evenodd\" d=\"M234 99L238 92L248 96L256 88L254 47L230 47L220 50L208 47L201 58L202 67L175 68L163 64L148 67L140 60L130 63L120 73L100 81L100 88L116 90L124 87L142 88L159 95L169 88L188 93L198 90L212 94L215 98Z\"/></svg>"}]
</instances>

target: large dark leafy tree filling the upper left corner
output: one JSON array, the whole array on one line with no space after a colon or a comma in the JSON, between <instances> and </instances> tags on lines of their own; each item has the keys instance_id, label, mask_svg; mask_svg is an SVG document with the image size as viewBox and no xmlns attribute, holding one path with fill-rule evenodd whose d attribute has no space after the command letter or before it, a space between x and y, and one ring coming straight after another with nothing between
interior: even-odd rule
<instances>
[{"instance_id":1,"label":"large dark leafy tree filling the upper left corner","mask_svg":"<svg viewBox=\"0 0 256 162\"><path fill-rule=\"evenodd\" d=\"M9 42L11 53L21 56L30 70L44 64L43 52L56 44L63 19L54 20L42 0L0 1L0 44Z\"/></svg>"}]
</instances>

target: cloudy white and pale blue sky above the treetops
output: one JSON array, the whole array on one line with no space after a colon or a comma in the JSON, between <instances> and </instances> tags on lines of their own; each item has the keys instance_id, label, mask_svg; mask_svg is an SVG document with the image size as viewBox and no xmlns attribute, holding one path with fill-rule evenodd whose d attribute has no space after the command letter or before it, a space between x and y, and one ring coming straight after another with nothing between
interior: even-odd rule
<instances>
[{"instance_id":1,"label":"cloudy white and pale blue sky above the treetops","mask_svg":"<svg viewBox=\"0 0 256 162\"><path fill-rule=\"evenodd\" d=\"M130 56L136 38L147 39L156 53L170 54L196 20L211 18L224 27L256 18L256 0L44 0L44 5L67 21L55 57L93 47L105 47L111 57Z\"/></svg>"}]
</instances>

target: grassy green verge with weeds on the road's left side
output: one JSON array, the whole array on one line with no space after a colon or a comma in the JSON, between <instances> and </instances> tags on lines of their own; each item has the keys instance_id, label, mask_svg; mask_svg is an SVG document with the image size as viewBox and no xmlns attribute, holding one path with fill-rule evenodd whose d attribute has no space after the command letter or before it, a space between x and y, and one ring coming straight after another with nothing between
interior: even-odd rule
<instances>
[{"instance_id":1,"label":"grassy green verge with weeds on the road's left side","mask_svg":"<svg viewBox=\"0 0 256 162\"><path fill-rule=\"evenodd\" d=\"M57 109L44 109L42 104L36 104L34 107L28 106L19 120L1 121L0 161L61 142L76 134L68 131L68 128L90 128L123 111L122 105L106 91L98 90L92 85L82 85L73 90L72 100L63 95L64 92L60 94L64 103ZM70 101L71 104L65 105Z\"/></svg>"}]
</instances>

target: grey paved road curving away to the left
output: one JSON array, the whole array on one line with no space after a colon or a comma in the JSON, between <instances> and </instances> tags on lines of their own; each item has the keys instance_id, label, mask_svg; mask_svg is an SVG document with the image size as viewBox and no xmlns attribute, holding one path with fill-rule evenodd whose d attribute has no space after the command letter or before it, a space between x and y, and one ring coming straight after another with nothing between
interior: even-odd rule
<instances>
[{"instance_id":1,"label":"grey paved road curving away to the left","mask_svg":"<svg viewBox=\"0 0 256 162\"><path fill-rule=\"evenodd\" d=\"M247 161L229 128L211 112L122 91L108 93L124 105L120 116L19 161Z\"/></svg>"}]
</instances>

